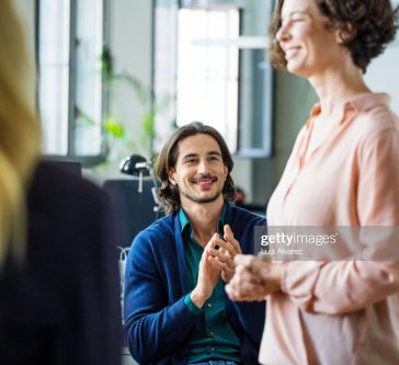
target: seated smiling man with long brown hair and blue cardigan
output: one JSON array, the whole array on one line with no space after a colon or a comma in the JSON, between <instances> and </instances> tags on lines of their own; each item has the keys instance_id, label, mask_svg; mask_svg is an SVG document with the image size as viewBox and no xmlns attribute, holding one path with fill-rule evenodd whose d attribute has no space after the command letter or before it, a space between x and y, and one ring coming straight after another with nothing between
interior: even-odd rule
<instances>
[{"instance_id":1,"label":"seated smiling man with long brown hair and blue cardigan","mask_svg":"<svg viewBox=\"0 0 399 365\"><path fill-rule=\"evenodd\" d=\"M156 167L167 217L134 240L125 273L125 333L144 364L258 364L264 304L233 303L237 253L253 253L265 219L228 202L232 159L220 134L179 128Z\"/></svg>"}]
</instances>

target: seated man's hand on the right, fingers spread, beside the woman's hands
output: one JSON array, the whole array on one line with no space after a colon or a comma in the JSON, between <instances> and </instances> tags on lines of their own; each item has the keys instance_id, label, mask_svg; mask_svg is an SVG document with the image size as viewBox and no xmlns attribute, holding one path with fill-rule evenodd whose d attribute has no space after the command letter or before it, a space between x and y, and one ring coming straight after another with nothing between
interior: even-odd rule
<instances>
[{"instance_id":1,"label":"seated man's hand on the right, fingers spread, beside the woman's hands","mask_svg":"<svg viewBox=\"0 0 399 365\"><path fill-rule=\"evenodd\" d=\"M224 227L224 240L217 237L218 250L212 248L209 250L212 256L209 261L221 270L221 278L225 283L229 283L235 274L235 258L241 253L240 243L235 239L229 225Z\"/></svg>"}]
</instances>

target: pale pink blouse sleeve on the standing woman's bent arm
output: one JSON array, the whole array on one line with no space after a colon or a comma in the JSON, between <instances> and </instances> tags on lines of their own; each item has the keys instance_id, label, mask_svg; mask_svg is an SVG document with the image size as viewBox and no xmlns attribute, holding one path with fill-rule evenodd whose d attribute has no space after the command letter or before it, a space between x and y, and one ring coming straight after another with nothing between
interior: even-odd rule
<instances>
[{"instance_id":1,"label":"pale pink blouse sleeve on the standing woman's bent arm","mask_svg":"<svg viewBox=\"0 0 399 365\"><path fill-rule=\"evenodd\" d=\"M364 138L354 187L360 225L378 226L381 233L363 235L361 243L377 255L362 261L285 263L282 289L305 310L351 312L399 290L399 133L391 126Z\"/></svg>"}]
</instances>

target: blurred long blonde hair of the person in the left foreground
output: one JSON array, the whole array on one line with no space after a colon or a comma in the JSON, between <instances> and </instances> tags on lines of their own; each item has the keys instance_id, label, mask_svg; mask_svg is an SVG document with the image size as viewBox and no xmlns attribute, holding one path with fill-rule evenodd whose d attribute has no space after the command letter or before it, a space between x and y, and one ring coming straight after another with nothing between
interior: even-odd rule
<instances>
[{"instance_id":1,"label":"blurred long blonde hair of the person in the left foreground","mask_svg":"<svg viewBox=\"0 0 399 365\"><path fill-rule=\"evenodd\" d=\"M12 0L0 1L0 267L25 252L25 191L41 149L35 71Z\"/></svg>"}]
</instances>

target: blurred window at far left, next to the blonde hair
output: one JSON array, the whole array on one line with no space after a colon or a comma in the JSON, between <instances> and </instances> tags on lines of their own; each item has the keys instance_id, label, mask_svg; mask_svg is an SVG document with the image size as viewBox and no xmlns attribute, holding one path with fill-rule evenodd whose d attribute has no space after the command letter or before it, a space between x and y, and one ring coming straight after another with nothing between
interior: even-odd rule
<instances>
[{"instance_id":1,"label":"blurred window at far left, next to the blonde hair","mask_svg":"<svg viewBox=\"0 0 399 365\"><path fill-rule=\"evenodd\" d=\"M89 161L104 155L101 54L104 1L39 0L39 110L44 153Z\"/></svg>"}]
</instances>

